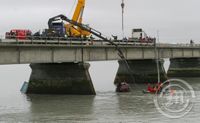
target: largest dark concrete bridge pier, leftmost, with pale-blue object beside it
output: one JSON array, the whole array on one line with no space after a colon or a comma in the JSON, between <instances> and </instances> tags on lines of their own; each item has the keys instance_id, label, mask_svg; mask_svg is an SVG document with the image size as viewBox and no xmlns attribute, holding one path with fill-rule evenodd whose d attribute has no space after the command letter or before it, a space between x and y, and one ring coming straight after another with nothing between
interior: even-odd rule
<instances>
[{"instance_id":1,"label":"largest dark concrete bridge pier, leftmost, with pale-blue object beside it","mask_svg":"<svg viewBox=\"0 0 200 123\"><path fill-rule=\"evenodd\" d=\"M89 63L31 64L29 83L21 90L27 94L95 95L89 66Z\"/></svg>"}]
</instances>

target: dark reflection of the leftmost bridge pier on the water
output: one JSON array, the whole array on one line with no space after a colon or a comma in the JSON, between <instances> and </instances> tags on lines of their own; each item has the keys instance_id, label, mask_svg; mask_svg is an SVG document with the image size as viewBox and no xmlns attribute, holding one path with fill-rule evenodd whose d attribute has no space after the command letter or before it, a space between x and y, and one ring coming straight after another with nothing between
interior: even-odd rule
<instances>
[{"instance_id":1,"label":"dark reflection of the leftmost bridge pier on the water","mask_svg":"<svg viewBox=\"0 0 200 123\"><path fill-rule=\"evenodd\" d=\"M38 121L90 120L94 96L29 95L31 117Z\"/></svg>"}]
</instances>

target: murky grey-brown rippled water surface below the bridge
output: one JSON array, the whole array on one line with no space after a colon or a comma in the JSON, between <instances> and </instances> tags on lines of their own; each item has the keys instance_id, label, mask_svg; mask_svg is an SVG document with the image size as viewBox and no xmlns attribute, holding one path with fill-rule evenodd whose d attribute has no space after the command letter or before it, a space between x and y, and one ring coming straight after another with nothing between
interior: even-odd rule
<instances>
[{"instance_id":1,"label":"murky grey-brown rippled water surface below the bridge","mask_svg":"<svg viewBox=\"0 0 200 123\"><path fill-rule=\"evenodd\" d=\"M0 121L8 122L196 122L200 120L200 78L184 78L195 88L192 111L181 119L168 119L155 108L153 95L143 94L146 85L131 93L98 92L96 96L24 95L0 93ZM4 98L3 98L4 97Z\"/></svg>"}]
</instances>

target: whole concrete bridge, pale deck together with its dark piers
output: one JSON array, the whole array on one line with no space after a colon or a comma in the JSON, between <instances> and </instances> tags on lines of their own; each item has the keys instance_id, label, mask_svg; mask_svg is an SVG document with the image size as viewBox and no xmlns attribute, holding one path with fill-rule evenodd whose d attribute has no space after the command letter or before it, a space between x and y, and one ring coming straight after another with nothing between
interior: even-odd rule
<instances>
[{"instance_id":1,"label":"whole concrete bridge, pale deck together with its dark piers","mask_svg":"<svg viewBox=\"0 0 200 123\"><path fill-rule=\"evenodd\" d=\"M80 43L77 43L80 42ZM200 74L200 45L198 44L137 44L121 42L122 49L133 71L136 81L156 81L156 57L171 59L169 73L176 70L185 73L197 70ZM0 64L31 64L30 82L22 90L39 94L95 94L88 72L87 61L119 60L115 83L122 80L132 82L118 51L106 42L82 41L18 41L5 40L0 43ZM180 64L179 64L180 63ZM190 65L187 65L190 64ZM187 66L187 68L184 68ZM178 67L178 68L176 68ZM162 80L166 79L163 62L160 61Z\"/></svg>"}]
</instances>

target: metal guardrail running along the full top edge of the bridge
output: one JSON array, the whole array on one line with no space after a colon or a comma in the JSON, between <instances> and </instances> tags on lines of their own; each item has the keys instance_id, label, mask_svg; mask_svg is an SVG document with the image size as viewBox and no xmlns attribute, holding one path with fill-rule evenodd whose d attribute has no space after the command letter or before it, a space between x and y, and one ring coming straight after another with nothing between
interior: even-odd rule
<instances>
[{"instance_id":1,"label":"metal guardrail running along the full top edge of the bridge","mask_svg":"<svg viewBox=\"0 0 200 123\"><path fill-rule=\"evenodd\" d=\"M94 46L106 46L110 45L108 42L103 40L94 40L94 39L81 39L81 38L60 38L60 37L38 37L38 36L31 36L27 37L27 39L20 39L23 37L12 37L12 39L2 39L0 38L0 45L1 44L40 44L40 45L94 45ZM152 47L154 43L152 42L135 42L129 40L111 40L117 45L121 46L146 46ZM158 43L156 44L157 47L199 47L200 44L169 44L169 43Z\"/></svg>"}]
</instances>

